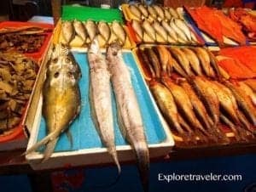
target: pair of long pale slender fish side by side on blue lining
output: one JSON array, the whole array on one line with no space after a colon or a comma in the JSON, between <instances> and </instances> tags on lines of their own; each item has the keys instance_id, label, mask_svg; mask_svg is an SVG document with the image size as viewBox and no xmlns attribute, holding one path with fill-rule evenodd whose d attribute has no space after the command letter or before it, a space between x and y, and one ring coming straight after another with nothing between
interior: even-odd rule
<instances>
[{"instance_id":1,"label":"pair of long pale slender fish side by side on blue lining","mask_svg":"<svg viewBox=\"0 0 256 192\"><path fill-rule=\"evenodd\" d=\"M119 128L137 156L137 166L143 188L144 191L148 191L148 144L137 97L131 85L130 70L122 57L121 48L118 43L112 43L108 47L107 59L105 59L95 39L90 45L88 60L91 114L102 143L112 155L120 173L118 155L114 145L111 81L117 105Z\"/></svg>"}]
</instances>

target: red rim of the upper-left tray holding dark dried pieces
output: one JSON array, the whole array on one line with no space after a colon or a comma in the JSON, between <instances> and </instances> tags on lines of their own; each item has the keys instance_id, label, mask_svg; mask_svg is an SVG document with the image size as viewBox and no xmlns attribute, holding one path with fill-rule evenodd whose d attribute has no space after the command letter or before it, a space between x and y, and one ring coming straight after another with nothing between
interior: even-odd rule
<instances>
[{"instance_id":1,"label":"red rim of the upper-left tray holding dark dried pieces","mask_svg":"<svg viewBox=\"0 0 256 192\"><path fill-rule=\"evenodd\" d=\"M17 22L17 21L0 22L0 29L3 29L5 27L11 27L11 28L17 27L18 28L18 27L22 27L22 26L38 26L38 27L42 27L42 28L51 30L51 31L47 31L47 32L43 33L46 36L46 38L44 39L44 43L38 52L25 54L27 57L31 57L32 59L36 60L37 62L40 62L42 60L42 57L44 56L44 52L46 51L46 49L49 45L49 40L52 35L52 31L54 30L54 25L45 24L45 23Z\"/></svg>"}]
</instances>

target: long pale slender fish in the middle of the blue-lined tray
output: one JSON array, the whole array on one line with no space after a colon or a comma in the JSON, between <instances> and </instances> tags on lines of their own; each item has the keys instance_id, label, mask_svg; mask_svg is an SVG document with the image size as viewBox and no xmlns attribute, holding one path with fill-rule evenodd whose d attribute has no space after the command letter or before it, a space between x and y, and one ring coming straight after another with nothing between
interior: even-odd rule
<instances>
[{"instance_id":1,"label":"long pale slender fish in the middle of the blue-lined tray","mask_svg":"<svg viewBox=\"0 0 256 192\"><path fill-rule=\"evenodd\" d=\"M107 147L108 153L112 155L113 161L117 165L120 173L121 168L114 145L110 73L96 39L90 45L88 61L90 65L91 114L102 143Z\"/></svg>"}]
</instances>

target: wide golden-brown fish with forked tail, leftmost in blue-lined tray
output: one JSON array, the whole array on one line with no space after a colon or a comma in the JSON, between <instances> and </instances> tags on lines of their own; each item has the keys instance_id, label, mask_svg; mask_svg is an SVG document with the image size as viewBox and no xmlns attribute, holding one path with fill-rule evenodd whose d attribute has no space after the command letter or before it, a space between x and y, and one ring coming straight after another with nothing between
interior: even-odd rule
<instances>
[{"instance_id":1,"label":"wide golden-brown fish with forked tail, leftmost in blue-lined tray","mask_svg":"<svg viewBox=\"0 0 256 192\"><path fill-rule=\"evenodd\" d=\"M43 88L43 116L48 135L26 150L25 155L46 145L43 161L49 159L55 150L60 134L80 113L80 77L81 71L73 54L68 51L67 47L57 44L49 60Z\"/></svg>"}]
</instances>

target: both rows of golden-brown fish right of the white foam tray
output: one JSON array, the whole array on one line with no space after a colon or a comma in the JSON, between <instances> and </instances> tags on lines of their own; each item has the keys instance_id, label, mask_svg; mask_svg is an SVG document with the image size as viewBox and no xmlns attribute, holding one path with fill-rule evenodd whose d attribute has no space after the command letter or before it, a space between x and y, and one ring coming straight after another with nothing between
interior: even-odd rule
<instances>
[{"instance_id":1,"label":"both rows of golden-brown fish right of the white foam tray","mask_svg":"<svg viewBox=\"0 0 256 192\"><path fill-rule=\"evenodd\" d=\"M199 54L198 51L204 52L206 58L211 56L206 60L203 54L191 64L192 56L187 58L189 52L194 55ZM172 132L183 138L184 144L227 144L230 138L226 136L223 125L233 133L236 142L255 138L256 98L252 81L229 82L218 76L214 56L203 48L168 50L158 46L139 49L139 57L163 116ZM174 75L172 70L185 78ZM201 76L203 74L212 80Z\"/></svg>"}]
</instances>

